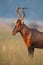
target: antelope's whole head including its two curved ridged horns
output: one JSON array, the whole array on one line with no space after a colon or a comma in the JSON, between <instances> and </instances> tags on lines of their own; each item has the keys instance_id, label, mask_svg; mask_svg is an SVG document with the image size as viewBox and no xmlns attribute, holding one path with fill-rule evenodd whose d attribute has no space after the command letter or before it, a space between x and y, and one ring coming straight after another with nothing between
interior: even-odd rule
<instances>
[{"instance_id":1,"label":"antelope's whole head including its two curved ridged horns","mask_svg":"<svg viewBox=\"0 0 43 65\"><path fill-rule=\"evenodd\" d=\"M22 16L18 12L18 10L19 10L19 8L16 9L16 12L18 14L19 19L17 20L16 25L15 25L15 28L14 28L14 30L12 32L13 35L15 35L17 32L20 32L20 30L22 28L22 25L23 25L23 19L25 17L24 8L22 8Z\"/></svg>"}]
</instances>

